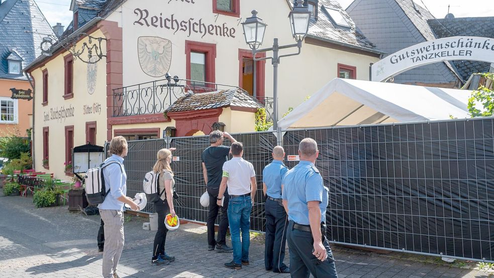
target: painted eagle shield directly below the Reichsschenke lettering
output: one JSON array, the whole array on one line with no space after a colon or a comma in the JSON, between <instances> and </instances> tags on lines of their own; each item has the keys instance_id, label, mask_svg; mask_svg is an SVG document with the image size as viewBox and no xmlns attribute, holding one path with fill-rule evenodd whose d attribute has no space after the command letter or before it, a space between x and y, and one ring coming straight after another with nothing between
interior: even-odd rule
<instances>
[{"instance_id":1,"label":"painted eagle shield directly below the Reichsschenke lettering","mask_svg":"<svg viewBox=\"0 0 494 278\"><path fill-rule=\"evenodd\" d=\"M142 71L152 77L161 77L171 64L171 41L160 37L139 37L137 52Z\"/></svg>"}]
</instances>

